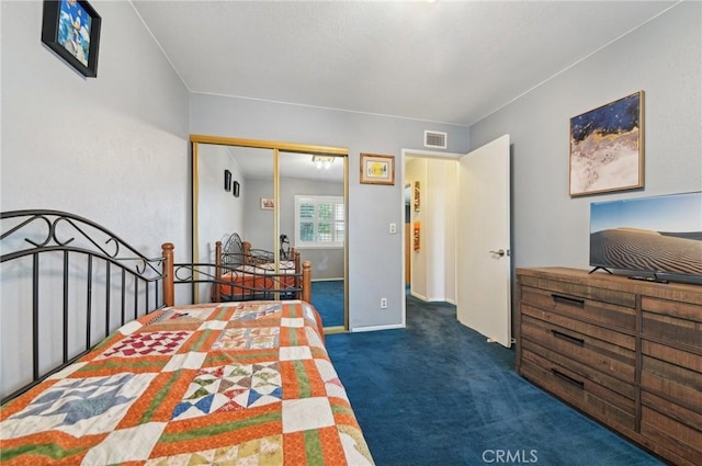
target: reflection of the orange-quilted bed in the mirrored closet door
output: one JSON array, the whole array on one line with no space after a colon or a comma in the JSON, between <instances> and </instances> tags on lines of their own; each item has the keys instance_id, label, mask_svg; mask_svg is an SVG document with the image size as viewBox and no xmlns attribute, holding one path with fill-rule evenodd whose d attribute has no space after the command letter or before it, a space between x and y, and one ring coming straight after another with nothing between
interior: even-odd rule
<instances>
[{"instance_id":1,"label":"reflection of the orange-quilted bed in the mirrored closet door","mask_svg":"<svg viewBox=\"0 0 702 466\"><path fill-rule=\"evenodd\" d=\"M224 247L216 242L215 258L219 277L212 289L215 303L291 298L298 296L299 289L308 288L302 282L305 276L309 280L309 273L304 274L304 264L294 248L290 250L291 259L281 260L276 268L272 251L253 249L234 232Z\"/></svg>"}]
</instances>

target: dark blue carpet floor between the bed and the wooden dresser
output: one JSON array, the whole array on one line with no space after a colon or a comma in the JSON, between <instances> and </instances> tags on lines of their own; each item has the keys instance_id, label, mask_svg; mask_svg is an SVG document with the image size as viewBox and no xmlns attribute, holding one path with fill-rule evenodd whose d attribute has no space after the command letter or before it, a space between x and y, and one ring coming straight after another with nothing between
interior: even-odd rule
<instances>
[{"instance_id":1,"label":"dark blue carpet floor between the bed and the wooden dresser","mask_svg":"<svg viewBox=\"0 0 702 466\"><path fill-rule=\"evenodd\" d=\"M406 329L326 341L378 466L663 464L520 377L452 305L408 296Z\"/></svg>"}]
</instances>

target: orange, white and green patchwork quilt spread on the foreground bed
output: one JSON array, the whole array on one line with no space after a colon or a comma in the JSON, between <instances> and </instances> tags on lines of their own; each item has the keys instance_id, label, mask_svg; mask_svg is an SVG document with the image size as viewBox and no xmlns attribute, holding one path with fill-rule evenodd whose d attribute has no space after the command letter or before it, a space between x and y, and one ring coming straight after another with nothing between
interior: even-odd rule
<instances>
[{"instance_id":1,"label":"orange, white and green patchwork quilt spread on the foreground bed","mask_svg":"<svg viewBox=\"0 0 702 466\"><path fill-rule=\"evenodd\" d=\"M166 308L0 411L10 465L369 465L304 302Z\"/></svg>"}]
</instances>

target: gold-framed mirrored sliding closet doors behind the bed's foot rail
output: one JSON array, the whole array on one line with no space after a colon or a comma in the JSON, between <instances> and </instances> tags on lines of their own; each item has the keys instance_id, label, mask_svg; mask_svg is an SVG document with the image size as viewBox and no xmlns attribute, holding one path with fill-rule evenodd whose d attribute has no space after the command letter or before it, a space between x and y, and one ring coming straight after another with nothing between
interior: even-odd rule
<instances>
[{"instance_id":1,"label":"gold-framed mirrored sliding closet doors behind the bed's foot rail","mask_svg":"<svg viewBox=\"0 0 702 466\"><path fill-rule=\"evenodd\" d=\"M276 266L293 249L312 262L313 304L325 331L348 328L348 149L191 136L193 261L213 263L215 243L239 235ZM210 299L206 286L197 299Z\"/></svg>"}]
</instances>

